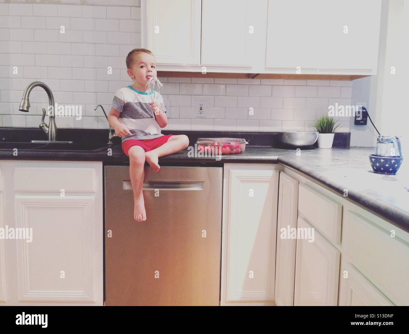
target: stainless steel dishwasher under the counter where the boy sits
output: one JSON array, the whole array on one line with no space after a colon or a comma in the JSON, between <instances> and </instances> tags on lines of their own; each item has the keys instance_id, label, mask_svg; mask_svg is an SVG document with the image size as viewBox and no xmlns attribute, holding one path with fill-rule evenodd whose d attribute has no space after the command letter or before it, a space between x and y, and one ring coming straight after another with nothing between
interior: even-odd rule
<instances>
[{"instance_id":1,"label":"stainless steel dishwasher under the counter where the boy sits","mask_svg":"<svg viewBox=\"0 0 409 334\"><path fill-rule=\"evenodd\" d=\"M145 167L133 219L128 166L105 166L106 305L219 305L222 167Z\"/></svg>"}]
</instances>

